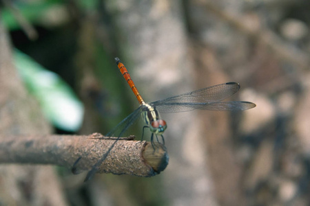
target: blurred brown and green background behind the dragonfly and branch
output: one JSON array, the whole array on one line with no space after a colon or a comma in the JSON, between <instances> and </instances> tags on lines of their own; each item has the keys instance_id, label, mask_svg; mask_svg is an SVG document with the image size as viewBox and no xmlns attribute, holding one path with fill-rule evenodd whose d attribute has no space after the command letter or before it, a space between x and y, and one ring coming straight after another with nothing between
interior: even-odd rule
<instances>
[{"instance_id":1,"label":"blurred brown and green background behind the dragonfly and branch","mask_svg":"<svg viewBox=\"0 0 310 206\"><path fill-rule=\"evenodd\" d=\"M116 56L147 102L239 82L257 104L163 114L151 178L1 165L0 205L310 205L310 1L0 2L2 135L107 133L138 107Z\"/></svg>"}]
</instances>

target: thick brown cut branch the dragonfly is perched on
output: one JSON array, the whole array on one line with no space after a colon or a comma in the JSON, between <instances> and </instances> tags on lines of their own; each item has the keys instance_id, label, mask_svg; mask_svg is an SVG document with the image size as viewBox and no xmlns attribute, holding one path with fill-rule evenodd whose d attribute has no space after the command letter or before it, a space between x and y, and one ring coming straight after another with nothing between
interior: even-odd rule
<instances>
[{"instance_id":1,"label":"thick brown cut branch the dragonfly is perched on","mask_svg":"<svg viewBox=\"0 0 310 206\"><path fill-rule=\"evenodd\" d=\"M72 168L81 157L76 170L88 171L114 141L99 133L88 136L0 136L0 163L54 164ZM98 172L154 176L166 168L169 159L165 146L156 144L155 148L147 141L121 139Z\"/></svg>"}]
</instances>

